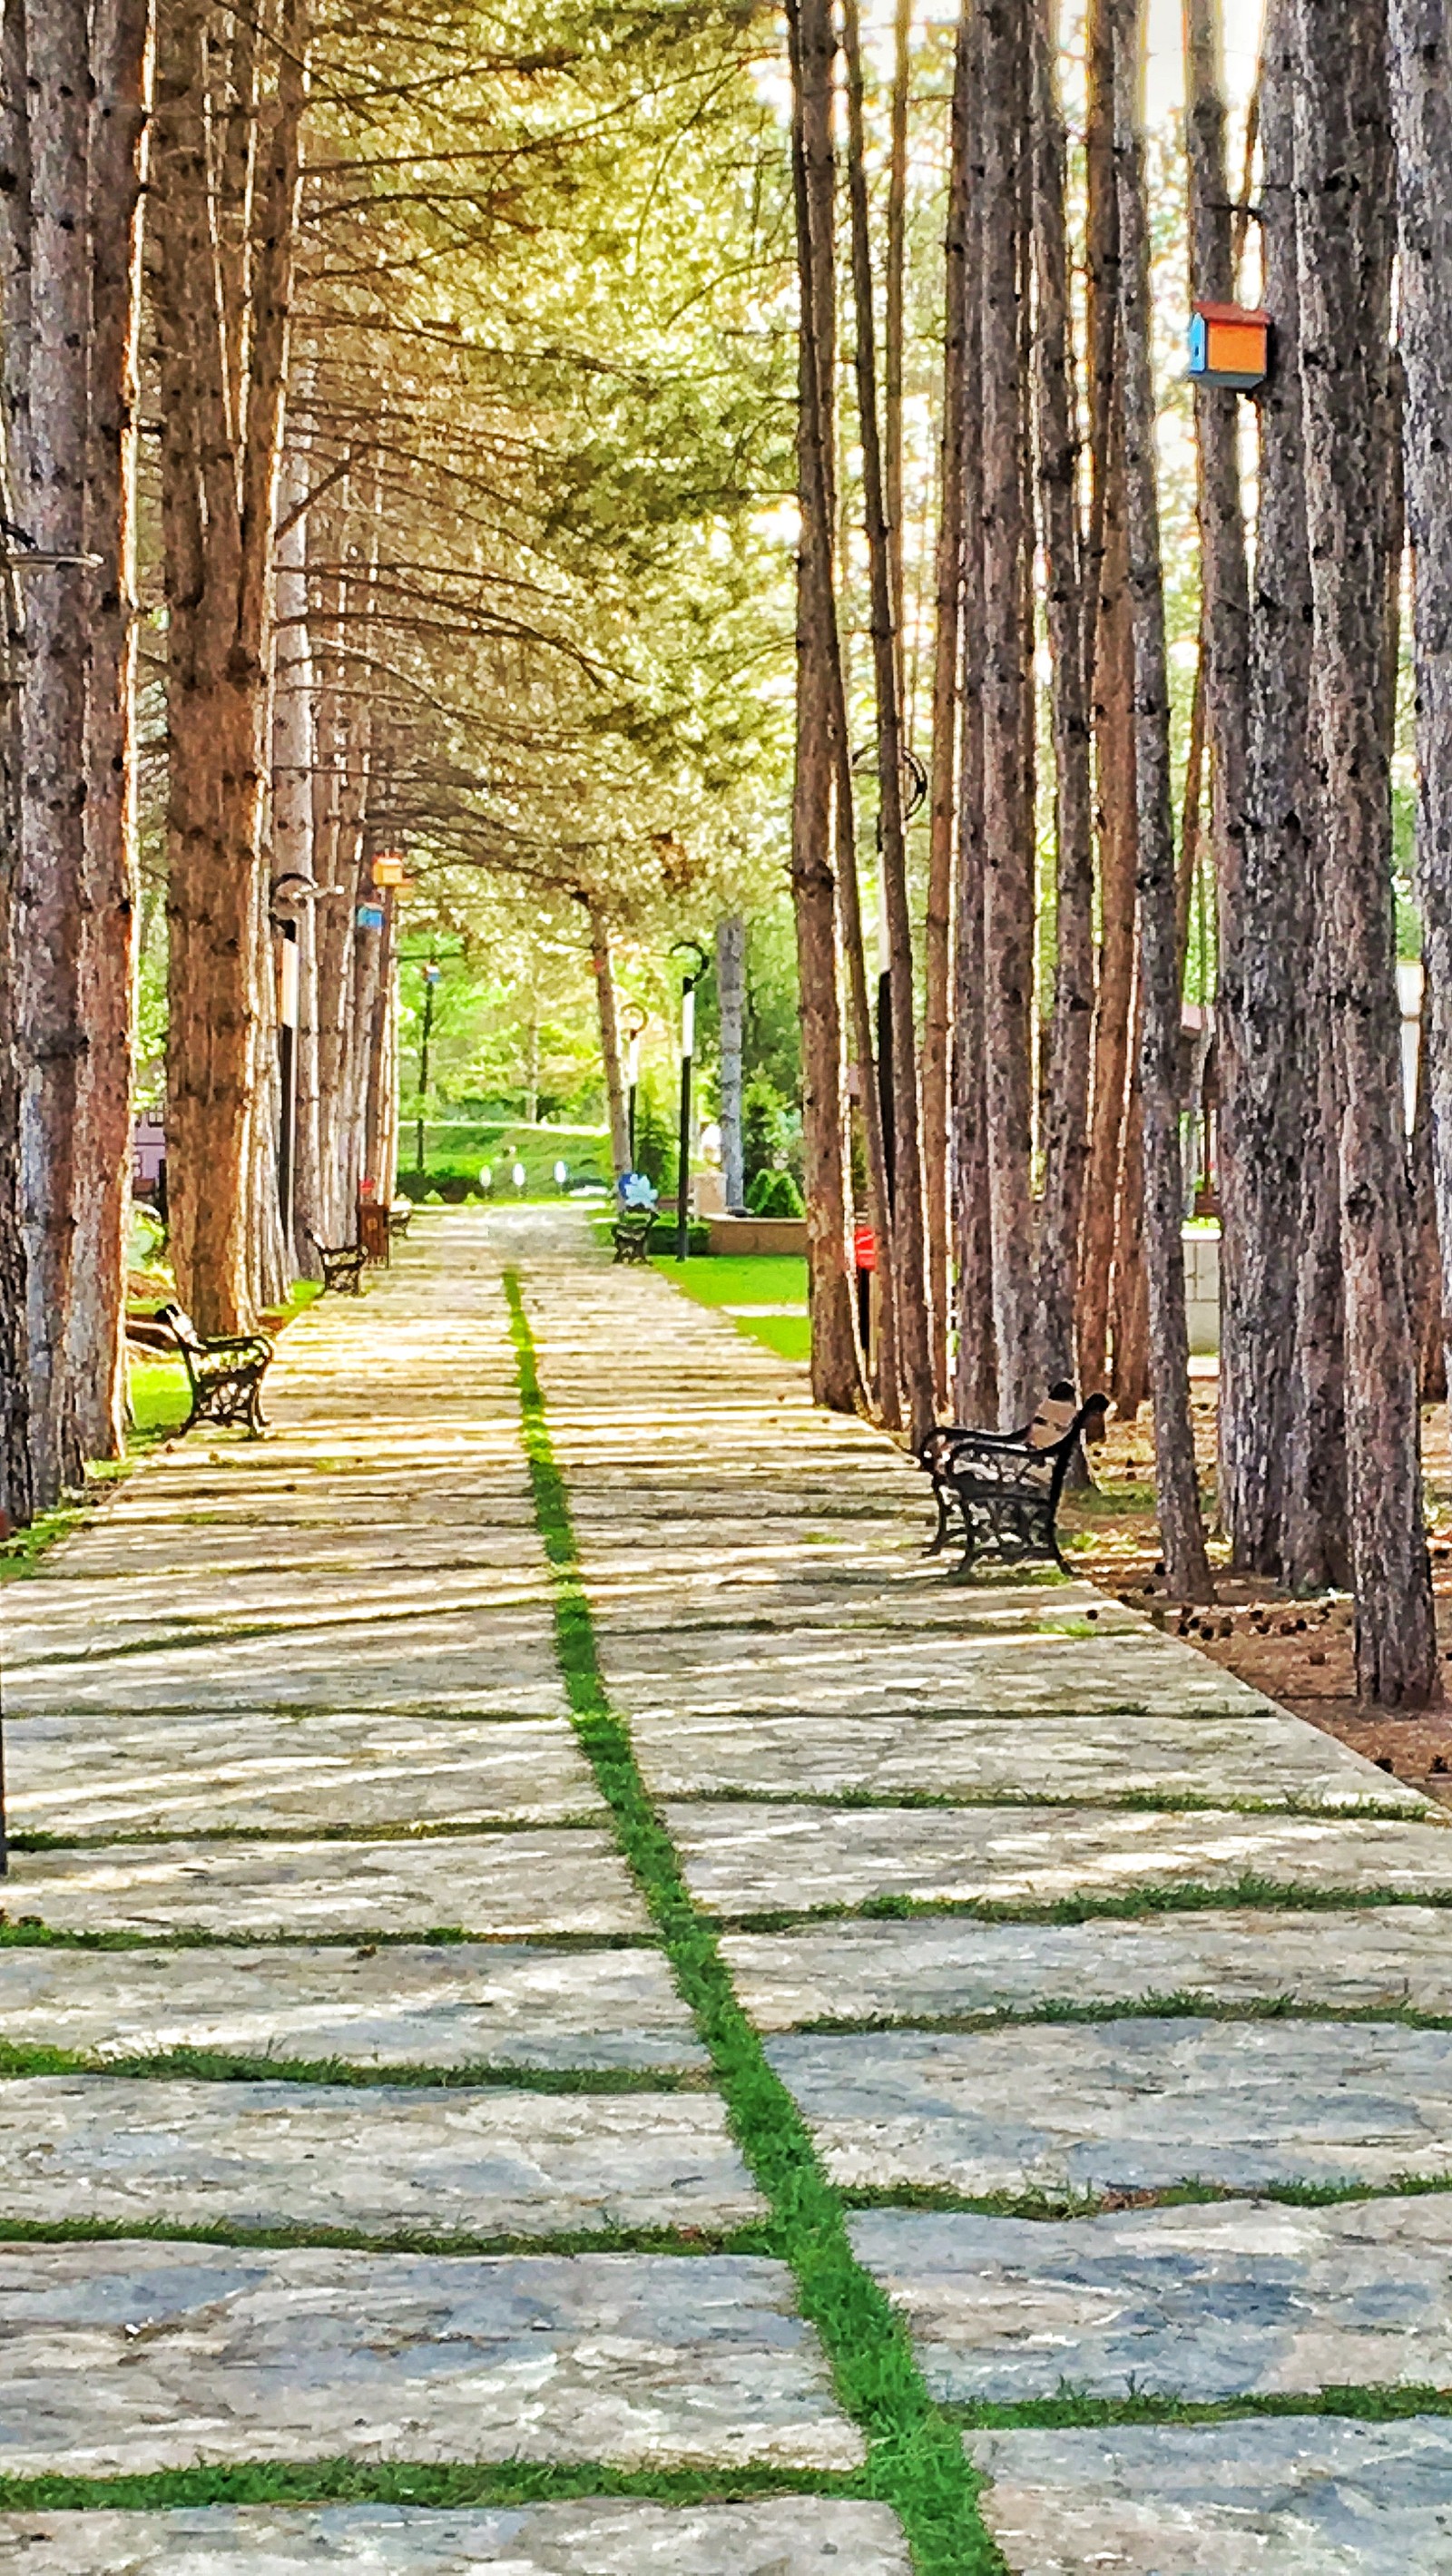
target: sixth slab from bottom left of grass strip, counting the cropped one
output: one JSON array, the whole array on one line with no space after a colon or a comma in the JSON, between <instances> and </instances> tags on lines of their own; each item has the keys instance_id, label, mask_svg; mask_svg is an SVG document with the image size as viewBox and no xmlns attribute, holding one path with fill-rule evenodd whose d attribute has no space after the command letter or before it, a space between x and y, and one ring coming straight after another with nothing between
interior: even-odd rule
<instances>
[{"instance_id":1,"label":"sixth slab from bottom left of grass strip, counting the cropped one","mask_svg":"<svg viewBox=\"0 0 1452 2576\"><path fill-rule=\"evenodd\" d=\"M10 1832L59 1837L602 1814L566 1718L21 1718L5 1731L5 1788Z\"/></svg>"}]
</instances>

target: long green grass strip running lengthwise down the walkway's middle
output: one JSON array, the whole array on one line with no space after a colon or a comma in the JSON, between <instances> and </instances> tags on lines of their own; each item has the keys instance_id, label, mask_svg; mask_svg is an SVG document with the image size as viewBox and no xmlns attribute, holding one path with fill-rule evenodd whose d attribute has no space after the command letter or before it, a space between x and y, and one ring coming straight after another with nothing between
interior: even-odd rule
<instances>
[{"instance_id":1,"label":"long green grass strip running lengthwise down the walkway's middle","mask_svg":"<svg viewBox=\"0 0 1452 2576\"><path fill-rule=\"evenodd\" d=\"M870 2442L868 2494L898 2514L919 2576L1007 2576L978 2517L983 2481L965 2460L955 2427L929 2398L906 2329L852 2254L842 2195L826 2182L806 2123L736 2002L716 1924L690 1899L675 1844L636 1767L628 1726L610 1705L515 1270L505 1273L505 1296L574 1728L711 2050L736 2143L772 2205L783 2257L796 2272L803 2313L826 2347L837 2396Z\"/></svg>"}]
</instances>

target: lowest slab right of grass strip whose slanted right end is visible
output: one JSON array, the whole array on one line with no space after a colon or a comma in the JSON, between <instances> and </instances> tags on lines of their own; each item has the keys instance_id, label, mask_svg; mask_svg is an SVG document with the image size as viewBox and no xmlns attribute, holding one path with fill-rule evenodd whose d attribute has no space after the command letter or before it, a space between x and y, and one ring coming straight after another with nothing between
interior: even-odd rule
<instances>
[{"instance_id":1,"label":"lowest slab right of grass strip whose slanted right end is visible","mask_svg":"<svg viewBox=\"0 0 1452 2576\"><path fill-rule=\"evenodd\" d=\"M1233 1798L1261 1806L1419 1814L1426 1801L1298 1718L857 1718L646 1716L636 1752L664 1798L765 1795L1063 1798L1115 1806Z\"/></svg>"}]
</instances>

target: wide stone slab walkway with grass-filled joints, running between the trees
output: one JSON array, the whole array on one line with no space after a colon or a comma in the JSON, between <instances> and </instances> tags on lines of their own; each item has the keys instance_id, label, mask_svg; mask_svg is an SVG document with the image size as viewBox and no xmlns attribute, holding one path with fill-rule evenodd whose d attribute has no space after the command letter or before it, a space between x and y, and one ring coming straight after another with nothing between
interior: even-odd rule
<instances>
[{"instance_id":1,"label":"wide stone slab walkway with grass-filled joints, running between the trees","mask_svg":"<svg viewBox=\"0 0 1452 2576\"><path fill-rule=\"evenodd\" d=\"M5 2576L1452 2568L1442 1811L569 1216L270 1409L5 1592Z\"/></svg>"}]
</instances>

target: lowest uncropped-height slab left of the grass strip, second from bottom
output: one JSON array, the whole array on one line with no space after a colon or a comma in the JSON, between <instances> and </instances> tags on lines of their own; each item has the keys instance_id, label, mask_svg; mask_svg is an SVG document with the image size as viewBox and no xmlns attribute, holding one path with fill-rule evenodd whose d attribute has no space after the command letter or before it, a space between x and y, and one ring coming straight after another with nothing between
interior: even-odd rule
<instances>
[{"instance_id":1,"label":"lowest uncropped-height slab left of the grass strip, second from bottom","mask_svg":"<svg viewBox=\"0 0 1452 2576\"><path fill-rule=\"evenodd\" d=\"M857 2468L783 2264L0 2246L0 2473L227 2460Z\"/></svg>"}]
</instances>

